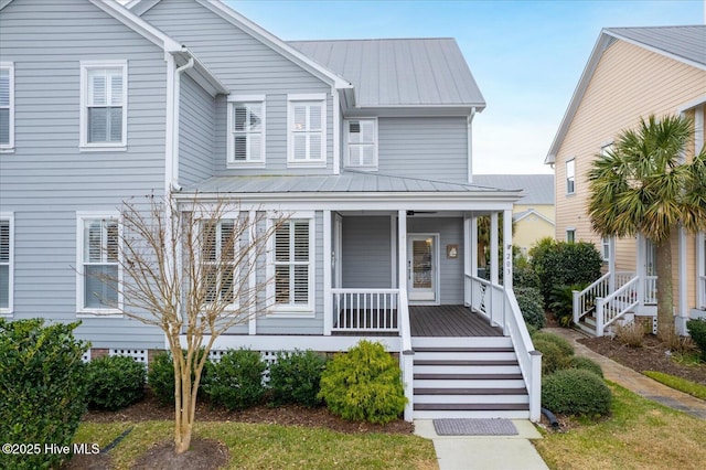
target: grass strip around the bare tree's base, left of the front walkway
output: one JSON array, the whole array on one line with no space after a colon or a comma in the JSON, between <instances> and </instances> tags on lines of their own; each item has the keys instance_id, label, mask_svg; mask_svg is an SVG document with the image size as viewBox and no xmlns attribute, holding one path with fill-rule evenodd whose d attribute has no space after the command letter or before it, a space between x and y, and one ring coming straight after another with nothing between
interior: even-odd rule
<instances>
[{"instance_id":1,"label":"grass strip around the bare tree's base, left of the front walkway","mask_svg":"<svg viewBox=\"0 0 706 470\"><path fill-rule=\"evenodd\" d=\"M173 437L173 423L82 423L75 442L110 444L132 431L109 455L129 469L152 444ZM196 423L194 436L224 442L233 469L438 469L430 440L388 434L342 434L322 428L243 423Z\"/></svg>"}]
</instances>

